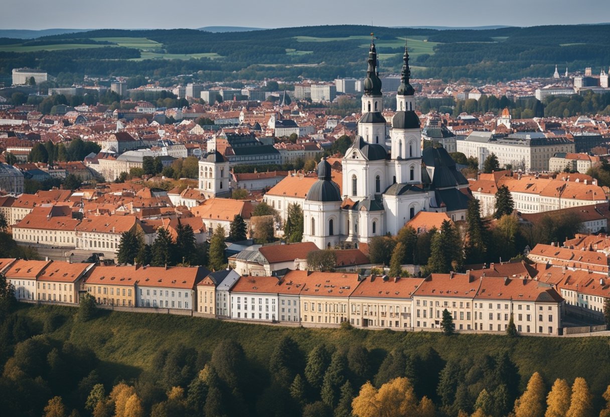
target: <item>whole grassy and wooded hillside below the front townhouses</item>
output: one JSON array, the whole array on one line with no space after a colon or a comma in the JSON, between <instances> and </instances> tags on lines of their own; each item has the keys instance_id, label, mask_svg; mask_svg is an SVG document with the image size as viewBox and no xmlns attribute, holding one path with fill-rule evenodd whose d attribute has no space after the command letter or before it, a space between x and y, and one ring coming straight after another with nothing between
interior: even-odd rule
<instances>
[{"instance_id":1,"label":"whole grassy and wooded hillside below the front townhouses","mask_svg":"<svg viewBox=\"0 0 610 417\"><path fill-rule=\"evenodd\" d=\"M584 377L591 408L578 415L597 416L610 382L606 337L304 329L49 305L19 305L0 321L5 415L339 417L360 391L363 410L407 392L408 407L426 408L419 415L504 416L518 397L533 401L522 394L539 372L544 400L556 379L569 395Z\"/></svg>"}]
</instances>

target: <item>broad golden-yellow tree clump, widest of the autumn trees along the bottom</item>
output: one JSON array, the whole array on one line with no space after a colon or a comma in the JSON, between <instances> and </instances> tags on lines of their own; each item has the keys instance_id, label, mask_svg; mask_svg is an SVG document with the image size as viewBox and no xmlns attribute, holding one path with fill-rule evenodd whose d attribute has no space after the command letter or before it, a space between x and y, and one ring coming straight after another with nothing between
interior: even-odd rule
<instances>
[{"instance_id":1,"label":"broad golden-yellow tree clump, widest of the autumn trees along the bottom","mask_svg":"<svg viewBox=\"0 0 610 417\"><path fill-rule=\"evenodd\" d=\"M426 397L418 401L411 382L404 377L384 383L379 390L365 383L351 406L357 417L434 416L432 401Z\"/></svg>"}]
</instances>

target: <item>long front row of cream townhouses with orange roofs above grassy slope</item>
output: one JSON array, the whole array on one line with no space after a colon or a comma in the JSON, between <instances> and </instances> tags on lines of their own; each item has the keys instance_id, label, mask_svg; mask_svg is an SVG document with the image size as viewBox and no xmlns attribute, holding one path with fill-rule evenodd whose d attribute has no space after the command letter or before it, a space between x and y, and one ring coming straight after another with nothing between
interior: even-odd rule
<instances>
[{"instance_id":1,"label":"long front row of cream townhouses with orange roofs above grassy slope","mask_svg":"<svg viewBox=\"0 0 610 417\"><path fill-rule=\"evenodd\" d=\"M278 277L242 276L234 269L210 273L204 267L0 259L0 273L20 301L76 305L88 293L99 305L307 327L347 322L370 329L433 330L446 309L458 331L504 332L512 317L521 333L558 335L564 308L553 279L531 279L536 269L525 264L426 278L299 270ZM610 285L607 277L600 280Z\"/></svg>"}]
</instances>

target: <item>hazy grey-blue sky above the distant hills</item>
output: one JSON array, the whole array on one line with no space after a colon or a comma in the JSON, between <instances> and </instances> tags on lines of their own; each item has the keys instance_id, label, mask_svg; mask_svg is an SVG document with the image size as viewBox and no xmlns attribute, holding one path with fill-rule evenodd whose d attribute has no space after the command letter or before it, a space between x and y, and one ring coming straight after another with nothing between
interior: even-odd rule
<instances>
[{"instance_id":1,"label":"hazy grey-blue sky above the distant hills","mask_svg":"<svg viewBox=\"0 0 610 417\"><path fill-rule=\"evenodd\" d=\"M607 0L3 0L0 29L537 26L610 21Z\"/></svg>"}]
</instances>

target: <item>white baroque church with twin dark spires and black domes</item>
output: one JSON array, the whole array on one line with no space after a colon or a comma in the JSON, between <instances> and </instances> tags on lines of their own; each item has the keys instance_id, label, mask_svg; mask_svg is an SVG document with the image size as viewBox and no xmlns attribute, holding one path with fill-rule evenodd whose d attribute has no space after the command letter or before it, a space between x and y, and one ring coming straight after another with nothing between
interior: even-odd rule
<instances>
[{"instance_id":1,"label":"white baroque church with twin dark spires and black domes","mask_svg":"<svg viewBox=\"0 0 610 417\"><path fill-rule=\"evenodd\" d=\"M404 49L402 80L389 137L382 116L383 97L375 43L371 40L357 136L342 159L343 195L331 180L331 165L318 164L318 180L303 202L303 241L318 248L341 242L354 246L398 233L420 211L446 212L463 220L472 194L468 181L443 148L422 152L415 90Z\"/></svg>"}]
</instances>

